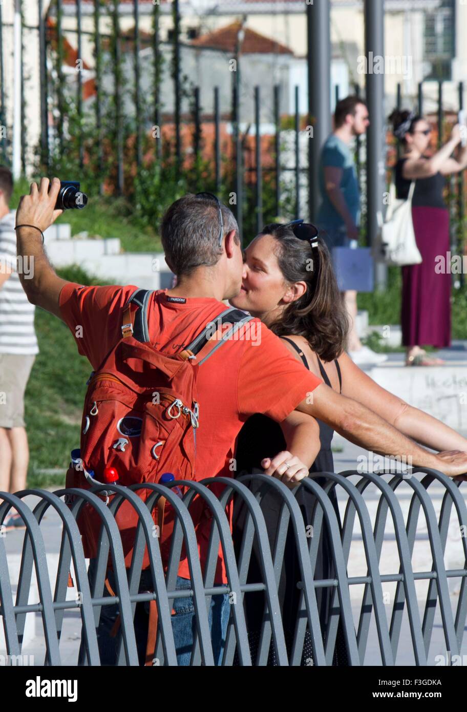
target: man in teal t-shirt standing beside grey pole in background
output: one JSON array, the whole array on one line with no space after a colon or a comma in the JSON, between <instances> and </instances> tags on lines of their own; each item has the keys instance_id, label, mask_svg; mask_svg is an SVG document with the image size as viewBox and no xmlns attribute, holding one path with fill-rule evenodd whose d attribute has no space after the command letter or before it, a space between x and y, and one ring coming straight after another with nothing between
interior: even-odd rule
<instances>
[{"instance_id":1,"label":"man in teal t-shirt standing beside grey pole in background","mask_svg":"<svg viewBox=\"0 0 467 712\"><path fill-rule=\"evenodd\" d=\"M337 102L334 123L334 132L327 138L320 155L322 203L316 217L322 230L322 239L330 251L334 247L348 247L352 240L358 239L360 192L350 143L355 136L360 136L367 130L367 105L357 96L342 99ZM357 292L348 290L344 293L344 298L352 324L348 342L352 360L357 364L386 360L387 356L363 346L358 337L355 328Z\"/></svg>"}]
</instances>

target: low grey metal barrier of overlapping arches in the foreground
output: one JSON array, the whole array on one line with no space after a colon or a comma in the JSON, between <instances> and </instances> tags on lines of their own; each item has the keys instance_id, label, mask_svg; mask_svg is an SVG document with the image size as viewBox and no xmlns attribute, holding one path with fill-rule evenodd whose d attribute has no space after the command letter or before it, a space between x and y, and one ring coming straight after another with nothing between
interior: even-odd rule
<instances>
[{"instance_id":1,"label":"low grey metal barrier of overlapping arches in the foreground","mask_svg":"<svg viewBox=\"0 0 467 712\"><path fill-rule=\"evenodd\" d=\"M391 474L390 478L382 475ZM350 477L357 478L351 482ZM320 478L320 483L316 478ZM401 488L402 483L405 486ZM376 627L377 649L380 664L396 663L401 641L404 615L409 624L411 653L415 665L429 663L429 649L434 631L436 609L439 606L444 633L446 655L461 653L463 632L467 617L467 508L460 481L446 477L439 471L414 468L405 474L382 472L359 473L345 471L319 473L305 479L299 487L291 490L275 478L260 473L242 473L238 478L209 478L202 482L183 482L188 487L183 500L169 486L154 484L134 485L130 488L105 485L92 491L60 489L53 493L43 490L25 490L16 494L0 493L0 618L4 628L4 647L9 656L21 656L26 614L39 614L43 626L43 661L46 665L59 666L61 660L60 639L65 612L78 610L82 624L82 653L79 664L100 665L98 627L100 612L109 604L117 604L120 613L120 630L117 634L117 664L138 665L134 617L138 602L157 602L157 639L154 647L154 664L177 665L177 651L172 632L172 605L176 598L192 597L196 631L191 649L191 665L214 665L213 646L209 630L209 606L211 598L229 594L230 618L226 635L222 664L241 666L271 664L280 666L313 664L332 665L338 635L345 644L347 663L362 665L367 654L372 621ZM212 486L215 485L214 494ZM222 487L220 487L222 486ZM408 486L409 490L406 489ZM147 488L151 494L145 503L137 491ZM369 488L377 495L377 507L373 521L364 493ZM431 490L430 490L431 488ZM95 493L112 490L115 498L108 506ZM298 492L307 493L313 502L305 523L303 510L298 504ZM401 506L401 490L405 503L409 504L404 516ZM436 490L441 507L436 514L434 498ZM340 507L337 509L335 491L339 492ZM172 535L167 570L164 570L159 550L159 541L154 536L152 508L163 495L172 504L176 523ZM23 501L26 496L36 496L38 503L33 509ZM196 532L190 516L190 507L196 496L204 500L212 514L213 525L207 550L204 572L201 571ZM271 521L265 519L263 503L273 496L277 503L275 529L271 537L268 530ZM334 497L334 501L333 501ZM64 499L67 501L65 503ZM244 511L241 535L234 539L226 516L226 507L234 499L235 508ZM125 569L125 558L115 512L124 501L132 504L139 523L135 534L135 548L130 570ZM102 521L98 543L95 578L90 585L86 560L81 544L76 518L81 508L88 503L95 508ZM19 512L26 527L21 551L17 580L9 570L6 548L4 518L10 508ZM52 577L48 570L46 545L41 531L41 521L49 510L55 511L61 522L57 528L58 569ZM343 513L342 524L338 514ZM352 538L355 541L356 523L360 527L364 555L364 575L350 576ZM461 568L446 569L445 552L448 528L454 523L458 528L456 556L463 562ZM382 573L382 549L388 528L394 530L398 565L390 573ZM415 571L412 556L416 533L425 530L429 540L431 569ZM311 531L311 535L310 535ZM316 576L316 564L322 547L322 533L327 535L327 553L333 575L328 578ZM289 544L287 544L287 542ZM280 580L285 570L287 546L292 542L293 557L297 562L296 580L292 584L298 591L298 604L293 624L293 636L286 639L283 626L283 601L280 598ZM182 546L189 562L191 589L177 590L177 572L182 555ZM222 549L226 585L214 585L219 546ZM152 590L140 591L140 575L145 547L149 552ZM258 559L260 575L253 582L248 580L253 551ZM115 572L115 595L105 595L107 560L110 555ZM73 571L75 587L79 595L67 599L68 572ZM36 575L38 600L30 602L33 572ZM461 581L456 605L451 602L448 580ZM14 577L13 577L14 578ZM426 600L421 606L417 598L416 582L427 583ZM12 591L16 585L16 594ZM290 581L289 581L290 585ZM352 607L352 587L363 586L360 611ZM391 606L388 609L387 592L383 587L395 587ZM325 621L318 606L317 595L325 591L330 602ZM258 644L251 646L251 620L246 615L245 598L251 594L262 595L263 612L256 620ZM423 610L421 611L421 607ZM455 608L455 611L453 611ZM388 615L389 612L389 615ZM389 618L389 620L388 620ZM406 637L407 639L407 637ZM405 640L406 640L405 639ZM373 648L374 648L373 642ZM303 651L313 652L303 662ZM1 644L0 644L1 647ZM1 652L1 651L0 651ZM268 663L269 661L269 663ZM372 664L375 664L374 661ZM448 663L447 663L448 664Z\"/></svg>"}]
</instances>

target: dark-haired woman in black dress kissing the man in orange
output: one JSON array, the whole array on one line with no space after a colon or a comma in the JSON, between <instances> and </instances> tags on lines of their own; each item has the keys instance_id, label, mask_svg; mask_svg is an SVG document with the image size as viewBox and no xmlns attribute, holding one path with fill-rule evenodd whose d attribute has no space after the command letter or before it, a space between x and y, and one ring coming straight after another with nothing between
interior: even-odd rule
<instances>
[{"instance_id":1,"label":"dark-haired woman in black dress kissing the man in orange","mask_svg":"<svg viewBox=\"0 0 467 712\"><path fill-rule=\"evenodd\" d=\"M244 251L242 288L235 298L229 300L231 305L261 319L276 335L283 338L285 347L305 367L321 375L328 387L371 407L406 436L435 450L466 451L467 441L461 435L377 385L352 362L345 352L347 314L337 288L330 254L321 239L302 239L306 234L306 226L300 231L294 224L271 224L263 228ZM261 394L258 394L258 399L261 399ZM325 423L319 422L318 425L321 449L310 467L310 474L334 471L331 451L333 431ZM246 421L237 439L237 476L242 471L264 472L270 466L271 459L282 451L290 451L300 460L310 461L303 443L286 443L282 428L283 424L277 424L262 414L253 415ZM269 453L271 458L263 459L265 453ZM281 473L284 474L285 471ZM320 484L325 482L319 476L316 481ZM251 488L256 491L256 484L251 485ZM307 525L311 521L315 498L305 488L300 488L296 496ZM331 500L340 522L335 491L332 491ZM271 545L276 538L280 502L280 498L270 491L261 500ZM245 514L243 506L237 503L234 511L234 540L237 547L241 543ZM335 577L327 530L324 527L321 532L314 534L320 536L315 579ZM297 583L300 581L295 545L290 532L284 562L279 594L284 632L290 649L298 609ZM253 546L248 582L261 580L258 551L256 549L255 552ZM318 589L316 594L322 630L325 631L331 590ZM263 593L246 594L245 605L254 664L263 617ZM308 635L302 664L309 664L310 658L313 658L313 652ZM270 663L274 663L272 649ZM341 629L338 630L333 664L347 665Z\"/></svg>"}]
</instances>

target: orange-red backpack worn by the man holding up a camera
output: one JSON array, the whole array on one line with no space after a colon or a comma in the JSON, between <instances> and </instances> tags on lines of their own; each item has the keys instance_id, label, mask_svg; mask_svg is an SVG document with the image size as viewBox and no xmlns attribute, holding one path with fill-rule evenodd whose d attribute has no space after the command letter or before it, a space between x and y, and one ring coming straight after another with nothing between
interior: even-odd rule
<instances>
[{"instance_id":1,"label":"orange-red backpack worn by the man holding up a camera","mask_svg":"<svg viewBox=\"0 0 467 712\"><path fill-rule=\"evenodd\" d=\"M149 342L147 307L151 294L147 290L136 290L132 294L123 312L121 340L88 380L80 460L78 465L71 464L68 469L67 487L90 489L102 485L108 468L115 469L118 484L122 486L158 483L167 472L173 473L176 480L196 479L199 366L252 317L241 310L226 309L207 324L189 346L167 356ZM226 323L231 324L231 328L222 328L222 337L218 337L216 345L201 362L195 362L196 355L216 333L214 325L219 328ZM150 494L149 490L138 493L142 501ZM108 502L115 494L109 493L108 499L103 497ZM200 508L200 517L203 509ZM172 506L159 498L152 518L159 527L159 545L166 565L174 525ZM130 567L138 517L129 502L122 503L116 520L125 566ZM93 506L85 504L78 516L85 557L97 555L101 525ZM147 549L142 567L149 567Z\"/></svg>"}]
</instances>

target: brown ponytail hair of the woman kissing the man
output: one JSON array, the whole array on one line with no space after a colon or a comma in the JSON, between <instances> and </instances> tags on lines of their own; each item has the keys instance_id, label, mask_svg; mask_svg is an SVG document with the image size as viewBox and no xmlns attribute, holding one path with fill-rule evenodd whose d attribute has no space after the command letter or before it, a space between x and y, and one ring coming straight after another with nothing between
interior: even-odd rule
<instances>
[{"instance_id":1,"label":"brown ponytail hair of the woman kissing the man","mask_svg":"<svg viewBox=\"0 0 467 712\"><path fill-rule=\"evenodd\" d=\"M349 318L337 287L330 253L318 237L312 247L288 225L271 223L261 231L277 241L274 254L286 283L306 282L303 295L290 302L280 319L269 325L277 336L303 336L322 361L332 361L345 350Z\"/></svg>"}]
</instances>

